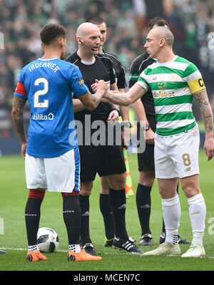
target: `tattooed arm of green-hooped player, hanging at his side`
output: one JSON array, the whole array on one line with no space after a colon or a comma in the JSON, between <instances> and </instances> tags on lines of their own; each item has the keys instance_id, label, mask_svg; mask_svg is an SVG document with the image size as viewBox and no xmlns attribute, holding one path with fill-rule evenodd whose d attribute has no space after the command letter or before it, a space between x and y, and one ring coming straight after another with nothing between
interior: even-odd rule
<instances>
[{"instance_id":1,"label":"tattooed arm of green-hooped player, hanging at his side","mask_svg":"<svg viewBox=\"0 0 214 285\"><path fill-rule=\"evenodd\" d=\"M209 103L208 94L206 90L203 90L199 93L195 93L194 97L200 108L200 113L205 126L205 133L210 133L213 136L213 112Z\"/></svg>"}]
</instances>

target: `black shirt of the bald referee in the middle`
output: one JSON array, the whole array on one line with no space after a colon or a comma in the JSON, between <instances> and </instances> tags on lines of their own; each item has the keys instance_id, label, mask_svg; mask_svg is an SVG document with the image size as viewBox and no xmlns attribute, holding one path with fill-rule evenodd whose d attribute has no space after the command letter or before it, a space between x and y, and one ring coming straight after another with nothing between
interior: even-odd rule
<instances>
[{"instance_id":1,"label":"black shirt of the bald referee in the middle","mask_svg":"<svg viewBox=\"0 0 214 285\"><path fill-rule=\"evenodd\" d=\"M98 54L97 56L94 56L94 58L95 61L92 64L83 63L77 52L75 52L71 56L68 56L68 58L66 59L66 61L78 66L82 73L83 80L85 81L86 86L88 86L88 89L91 93L93 93L91 85L95 83L96 79L102 79L103 81L106 81L109 88L111 84L116 82L113 62L105 55ZM95 110L90 111L88 109L84 109L80 112L74 113L74 117L75 120L80 120L81 122L84 122L85 115L91 115L91 122L93 122L93 120L103 120L106 122L109 113L111 113L111 110L111 103L101 102Z\"/></svg>"}]
</instances>

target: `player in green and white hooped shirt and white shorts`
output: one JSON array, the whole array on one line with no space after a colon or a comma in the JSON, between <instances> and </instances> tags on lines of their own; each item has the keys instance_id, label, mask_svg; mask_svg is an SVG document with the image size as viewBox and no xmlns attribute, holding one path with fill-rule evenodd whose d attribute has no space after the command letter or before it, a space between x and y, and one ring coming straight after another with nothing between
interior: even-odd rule
<instances>
[{"instance_id":1,"label":"player in green and white hooped shirt and white shorts","mask_svg":"<svg viewBox=\"0 0 214 285\"><path fill-rule=\"evenodd\" d=\"M104 97L118 105L130 105L141 98L148 88L153 93L158 121L155 134L155 168L158 179L165 242L144 255L180 254L178 227L180 202L176 193L178 178L188 199L193 240L181 257L205 255L203 234L205 229L205 201L200 192L198 125L192 113L193 97L200 106L205 126L204 150L208 160L214 155L213 113L203 79L193 63L173 53L173 33L169 28L153 28L146 38L145 48L157 61L148 66L127 93L109 91ZM96 90L96 84L93 90Z\"/></svg>"}]
</instances>

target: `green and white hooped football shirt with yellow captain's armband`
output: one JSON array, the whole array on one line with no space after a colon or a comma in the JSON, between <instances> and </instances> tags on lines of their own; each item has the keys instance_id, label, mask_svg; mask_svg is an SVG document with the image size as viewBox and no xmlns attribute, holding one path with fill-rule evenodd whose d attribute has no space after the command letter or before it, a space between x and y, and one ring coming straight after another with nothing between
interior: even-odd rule
<instances>
[{"instance_id":1,"label":"green and white hooped football shirt with yellow captain's armband","mask_svg":"<svg viewBox=\"0 0 214 285\"><path fill-rule=\"evenodd\" d=\"M193 93L205 90L205 85L193 63L180 56L167 63L156 61L140 74L137 83L146 90L151 88L158 135L177 135L195 126Z\"/></svg>"}]
</instances>

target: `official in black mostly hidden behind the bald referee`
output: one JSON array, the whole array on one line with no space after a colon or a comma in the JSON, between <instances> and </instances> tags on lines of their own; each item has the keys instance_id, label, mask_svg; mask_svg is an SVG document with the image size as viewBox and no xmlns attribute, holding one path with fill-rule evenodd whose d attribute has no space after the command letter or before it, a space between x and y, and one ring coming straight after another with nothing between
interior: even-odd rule
<instances>
[{"instance_id":1,"label":"official in black mostly hidden behind the bald referee","mask_svg":"<svg viewBox=\"0 0 214 285\"><path fill-rule=\"evenodd\" d=\"M95 24L98 29L101 32L101 44L99 46L99 54L102 54L103 56L106 56L107 58L110 58L113 62L113 69L116 74L116 85L120 92L125 92L126 88L126 73L121 65L121 62L118 60L118 58L112 54L107 53L103 46L106 43L106 36L107 36L107 24L106 22L98 16L91 16L88 19L86 19L86 22ZM121 115L121 118L123 120L123 130L126 128L127 136L128 133L130 133L131 130L131 123L129 122L129 115L128 115L128 107L120 106L120 109L118 109L118 114ZM123 147L128 148L128 142L124 142ZM111 203L108 199L108 192L109 192L109 183L106 176L101 177L101 190L100 190L100 209L101 214L103 215L103 222L105 225L105 233L106 237L104 239L104 246L105 247L111 247L113 245L113 238L115 235L115 228L114 228L114 222L113 222L113 213L111 209Z\"/></svg>"}]
</instances>

